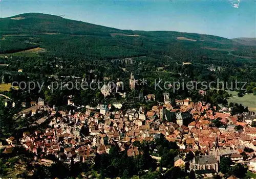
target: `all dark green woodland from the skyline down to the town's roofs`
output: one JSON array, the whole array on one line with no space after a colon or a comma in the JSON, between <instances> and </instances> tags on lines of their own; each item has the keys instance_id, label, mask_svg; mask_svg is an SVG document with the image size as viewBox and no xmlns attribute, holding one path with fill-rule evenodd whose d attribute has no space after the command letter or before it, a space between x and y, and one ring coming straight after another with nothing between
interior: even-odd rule
<instances>
[{"instance_id":1,"label":"all dark green woodland from the skyline down to the town's roofs","mask_svg":"<svg viewBox=\"0 0 256 179\"><path fill-rule=\"evenodd\" d=\"M97 103L109 103L113 98L123 100L118 95L104 98L99 89L52 92L48 88L54 81L81 82L82 79L106 83L122 81L127 101L141 92L144 95L154 93L159 101L163 100L163 92L169 92L172 98L190 97L197 93L187 89L155 89L156 80L161 81L159 84L162 86L164 82L209 83L218 79L227 83L224 87L222 84L218 86L221 89L231 89L230 84L239 81L247 83L240 90L241 94L256 93L255 48L238 40L193 33L118 30L39 13L1 18L0 21L2 83L44 83L40 92L37 88L32 93L27 89L4 92L15 100L29 102L40 96L49 105L56 106L66 104L67 96L71 94L75 96L77 105L95 106ZM19 69L23 72L18 72ZM131 72L139 82L144 79L147 83L131 91ZM75 76L75 79L67 76ZM217 84L211 87L216 88ZM243 83L239 83L238 89L242 87ZM212 103L227 105L224 100L227 96L222 95L218 99L212 96L215 95L209 95ZM195 99L200 98L202 96Z\"/></svg>"}]
</instances>

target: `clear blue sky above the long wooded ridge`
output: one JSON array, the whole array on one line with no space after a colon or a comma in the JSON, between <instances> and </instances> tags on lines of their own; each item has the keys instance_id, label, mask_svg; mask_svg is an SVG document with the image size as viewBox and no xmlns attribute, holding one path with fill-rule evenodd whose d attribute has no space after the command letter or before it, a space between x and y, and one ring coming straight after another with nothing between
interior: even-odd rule
<instances>
[{"instance_id":1,"label":"clear blue sky above the long wooded ridge","mask_svg":"<svg viewBox=\"0 0 256 179\"><path fill-rule=\"evenodd\" d=\"M0 17L40 12L118 29L256 37L256 1L231 2L238 0L2 0Z\"/></svg>"}]
</instances>

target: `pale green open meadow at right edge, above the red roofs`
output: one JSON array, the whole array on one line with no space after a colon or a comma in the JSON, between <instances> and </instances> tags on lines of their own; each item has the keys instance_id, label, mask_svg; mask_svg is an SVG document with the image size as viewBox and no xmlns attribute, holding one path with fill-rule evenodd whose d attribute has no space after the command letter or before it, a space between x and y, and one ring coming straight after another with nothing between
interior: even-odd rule
<instances>
[{"instance_id":1,"label":"pale green open meadow at right edge, above the red roofs","mask_svg":"<svg viewBox=\"0 0 256 179\"><path fill-rule=\"evenodd\" d=\"M229 94L232 94L234 97L227 99L228 103L238 103L242 104L244 107L248 106L250 111L256 112L256 96L253 94L245 94L243 97L237 96L237 91L227 91Z\"/></svg>"}]
</instances>

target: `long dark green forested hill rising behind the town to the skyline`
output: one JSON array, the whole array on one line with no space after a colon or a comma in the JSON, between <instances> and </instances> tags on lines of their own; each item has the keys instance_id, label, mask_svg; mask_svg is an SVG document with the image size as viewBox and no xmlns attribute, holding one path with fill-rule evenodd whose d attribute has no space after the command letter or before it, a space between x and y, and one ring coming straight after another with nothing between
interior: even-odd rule
<instances>
[{"instance_id":1,"label":"long dark green forested hill rising behind the town to the skyline","mask_svg":"<svg viewBox=\"0 0 256 179\"><path fill-rule=\"evenodd\" d=\"M41 13L0 18L0 39L0 54L39 47L53 56L97 59L151 54L187 61L202 56L225 56L225 59L230 52L252 59L255 56L252 46L223 37L171 31L119 30Z\"/></svg>"}]
</instances>

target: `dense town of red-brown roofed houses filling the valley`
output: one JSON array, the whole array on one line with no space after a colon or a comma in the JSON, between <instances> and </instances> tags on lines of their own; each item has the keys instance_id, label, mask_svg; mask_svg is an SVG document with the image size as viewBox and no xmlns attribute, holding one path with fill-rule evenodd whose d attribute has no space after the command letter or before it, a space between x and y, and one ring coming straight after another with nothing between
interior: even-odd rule
<instances>
[{"instance_id":1,"label":"dense town of red-brown roofed houses filling the valley","mask_svg":"<svg viewBox=\"0 0 256 179\"><path fill-rule=\"evenodd\" d=\"M10 145L21 143L34 153L35 159L51 154L66 162L92 162L96 153L108 153L113 145L121 150L128 148L128 156L140 155L139 148L133 145L135 141L154 141L163 135L176 142L182 152L199 151L190 162L190 170L217 172L220 157L230 157L237 163L251 160L249 169L256 171L256 127L251 127L256 120L254 113L243 114L241 121L240 116L231 116L229 109L217 112L216 107L203 101L193 103L189 98L176 100L178 109L174 109L168 95L164 96L164 104L147 111L143 106L122 111L119 103L87 106L85 112L45 108L49 113L44 118L49 121L48 129L25 132L20 139L10 137L6 141ZM41 99L38 106L44 106ZM216 127L212 122L216 119L225 127ZM243 126L241 131L235 130L238 125ZM184 157L177 156L175 166L184 165Z\"/></svg>"}]
</instances>

